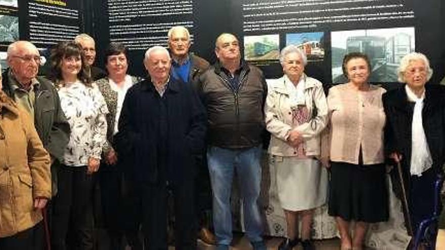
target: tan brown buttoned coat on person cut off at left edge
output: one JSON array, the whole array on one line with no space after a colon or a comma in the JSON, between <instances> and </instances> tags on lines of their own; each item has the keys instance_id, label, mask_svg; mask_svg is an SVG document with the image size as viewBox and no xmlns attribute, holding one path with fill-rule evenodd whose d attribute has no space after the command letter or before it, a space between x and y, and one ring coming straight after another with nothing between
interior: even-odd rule
<instances>
[{"instance_id":1,"label":"tan brown buttoned coat on person cut off at left edge","mask_svg":"<svg viewBox=\"0 0 445 250\"><path fill-rule=\"evenodd\" d=\"M29 115L0 90L0 237L41 220L36 197L51 197L50 156Z\"/></svg>"}]
</instances>

